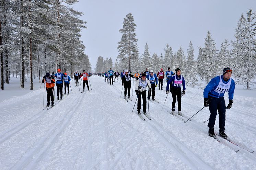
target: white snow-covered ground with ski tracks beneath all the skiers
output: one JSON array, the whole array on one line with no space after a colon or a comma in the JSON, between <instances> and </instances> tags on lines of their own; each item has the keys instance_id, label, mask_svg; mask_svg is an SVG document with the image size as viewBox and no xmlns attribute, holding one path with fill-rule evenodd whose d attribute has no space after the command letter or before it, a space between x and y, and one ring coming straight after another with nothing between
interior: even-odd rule
<instances>
[{"instance_id":1,"label":"white snow-covered ground with ski tracks beneath all the skiers","mask_svg":"<svg viewBox=\"0 0 256 170\"><path fill-rule=\"evenodd\" d=\"M135 92L132 101L126 102L123 94L120 99L119 82L110 86L92 76L92 91L84 93L71 82L73 93L70 90L56 106L42 110L43 87L19 89L19 80L11 80L18 86L4 84L6 90L0 91L1 170L256 170L256 153L238 147L240 151L234 152L208 136L207 123L203 123L209 118L208 108L184 123L167 113L171 95L161 110L166 94L158 88L155 99L160 103L149 103L152 120L144 116L143 121L132 113ZM39 87L35 83L35 89ZM187 87L182 97L185 116L203 107L202 93L202 89ZM235 91L232 108L226 111L225 131L253 151L255 98L255 90ZM215 129L218 132L218 118Z\"/></svg>"}]
</instances>

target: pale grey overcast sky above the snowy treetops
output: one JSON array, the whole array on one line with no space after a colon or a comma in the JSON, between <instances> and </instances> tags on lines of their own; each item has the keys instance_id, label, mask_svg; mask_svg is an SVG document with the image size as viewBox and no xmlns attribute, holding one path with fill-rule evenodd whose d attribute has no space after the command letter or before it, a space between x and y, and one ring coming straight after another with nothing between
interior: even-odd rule
<instances>
[{"instance_id":1,"label":"pale grey overcast sky above the snowy treetops","mask_svg":"<svg viewBox=\"0 0 256 170\"><path fill-rule=\"evenodd\" d=\"M151 56L164 55L166 43L174 53L182 46L186 55L192 41L197 58L208 30L217 49L225 39L234 40L238 19L248 9L255 12L256 0L79 0L73 8L83 12L80 18L87 22L81 40L94 70L99 55L116 61L119 30L128 13L137 25L140 55L146 43Z\"/></svg>"}]
</instances>

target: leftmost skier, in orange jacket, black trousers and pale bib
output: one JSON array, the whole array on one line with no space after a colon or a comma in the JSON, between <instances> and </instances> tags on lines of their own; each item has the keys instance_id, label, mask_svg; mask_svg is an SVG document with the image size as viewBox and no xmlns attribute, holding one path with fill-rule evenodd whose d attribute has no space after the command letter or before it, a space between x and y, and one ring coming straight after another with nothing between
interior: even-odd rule
<instances>
[{"instance_id":1,"label":"leftmost skier, in orange jacket, black trousers and pale bib","mask_svg":"<svg viewBox=\"0 0 256 170\"><path fill-rule=\"evenodd\" d=\"M50 106L50 101L51 101L51 106L54 106L54 95L53 95L53 90L54 90L54 75L50 75L50 73L46 73L46 75L43 77L42 83L45 83L46 87L46 93L47 93L47 107Z\"/></svg>"}]
</instances>

